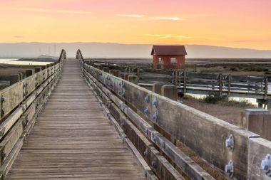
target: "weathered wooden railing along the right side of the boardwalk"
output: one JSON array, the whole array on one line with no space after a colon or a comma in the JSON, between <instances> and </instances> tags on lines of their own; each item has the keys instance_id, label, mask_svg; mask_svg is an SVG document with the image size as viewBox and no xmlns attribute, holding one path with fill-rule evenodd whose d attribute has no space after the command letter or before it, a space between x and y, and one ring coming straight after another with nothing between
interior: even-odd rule
<instances>
[{"instance_id":1,"label":"weathered wooden railing along the right side of the boardwalk","mask_svg":"<svg viewBox=\"0 0 271 180\"><path fill-rule=\"evenodd\" d=\"M118 78L110 73L94 68L83 60L78 51L83 74L101 97L103 104L115 117L129 139L137 147L147 164L156 174L163 171L163 165L152 166L159 162L152 154L155 144L190 179L212 179L206 171L185 156L172 142L163 137L148 122L170 134L185 144L206 162L234 179L266 179L261 162L271 152L271 142L258 134L231 125L216 117L180 104L167 97ZM126 122L131 121L132 125ZM147 121L145 121L147 120ZM136 125L138 130L132 130ZM138 135L138 133L143 134ZM159 162L160 163L160 162Z\"/></svg>"}]
</instances>

